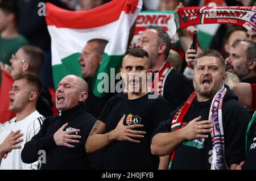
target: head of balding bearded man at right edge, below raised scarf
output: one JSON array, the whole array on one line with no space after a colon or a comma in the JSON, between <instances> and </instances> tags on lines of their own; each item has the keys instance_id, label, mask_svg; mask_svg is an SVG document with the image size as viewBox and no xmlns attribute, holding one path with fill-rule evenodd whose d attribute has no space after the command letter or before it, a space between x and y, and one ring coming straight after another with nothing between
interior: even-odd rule
<instances>
[{"instance_id":1,"label":"head of balding bearded man at right edge, below raised scarf","mask_svg":"<svg viewBox=\"0 0 256 181\"><path fill-rule=\"evenodd\" d=\"M235 73L242 82L256 83L256 43L236 41L226 58L227 70Z\"/></svg>"}]
</instances>

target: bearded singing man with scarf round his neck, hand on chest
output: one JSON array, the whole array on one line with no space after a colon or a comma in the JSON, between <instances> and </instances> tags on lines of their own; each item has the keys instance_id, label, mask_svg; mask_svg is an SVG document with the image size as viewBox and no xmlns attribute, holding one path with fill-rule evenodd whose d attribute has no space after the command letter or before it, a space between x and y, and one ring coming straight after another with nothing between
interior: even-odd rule
<instances>
[{"instance_id":1,"label":"bearded singing man with scarf round his neck, hand on chest","mask_svg":"<svg viewBox=\"0 0 256 181\"><path fill-rule=\"evenodd\" d=\"M170 155L169 169L236 169L245 159L249 116L224 86L225 79L220 53L201 52L195 61L195 92L152 136L152 154Z\"/></svg>"}]
</instances>

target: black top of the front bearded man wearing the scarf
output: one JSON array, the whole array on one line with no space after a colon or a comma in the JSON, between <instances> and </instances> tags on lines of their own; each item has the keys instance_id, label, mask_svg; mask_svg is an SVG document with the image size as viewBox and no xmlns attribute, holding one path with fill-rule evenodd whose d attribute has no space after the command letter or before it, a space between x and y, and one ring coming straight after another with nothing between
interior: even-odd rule
<instances>
[{"instance_id":1,"label":"black top of the front bearded man wearing the scarf","mask_svg":"<svg viewBox=\"0 0 256 181\"><path fill-rule=\"evenodd\" d=\"M222 105L225 160L228 166L232 163L239 164L245 159L245 132L250 119L241 104L234 98L233 92L228 89ZM211 102L212 99L207 102L198 102L195 99L185 115L181 127L184 127L189 121L199 116L202 116L201 120L208 120ZM171 121L179 108L171 113L167 121L159 123L158 128L152 134L153 136L157 133L171 131ZM211 141L209 133L207 139L198 138L193 141L183 142L175 151L172 169L210 169L212 160Z\"/></svg>"}]
</instances>

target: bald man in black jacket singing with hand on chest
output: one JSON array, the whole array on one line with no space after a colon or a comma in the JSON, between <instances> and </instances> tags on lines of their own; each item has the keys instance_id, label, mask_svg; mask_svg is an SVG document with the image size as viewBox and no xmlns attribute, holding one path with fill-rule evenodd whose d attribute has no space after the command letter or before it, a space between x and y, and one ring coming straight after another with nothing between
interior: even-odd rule
<instances>
[{"instance_id":1,"label":"bald man in black jacket singing with hand on chest","mask_svg":"<svg viewBox=\"0 0 256 181\"><path fill-rule=\"evenodd\" d=\"M85 142L96 118L84 105L88 85L76 75L64 77L55 99L59 116L44 120L41 130L22 150L22 161L41 161L40 169L91 169Z\"/></svg>"}]
</instances>

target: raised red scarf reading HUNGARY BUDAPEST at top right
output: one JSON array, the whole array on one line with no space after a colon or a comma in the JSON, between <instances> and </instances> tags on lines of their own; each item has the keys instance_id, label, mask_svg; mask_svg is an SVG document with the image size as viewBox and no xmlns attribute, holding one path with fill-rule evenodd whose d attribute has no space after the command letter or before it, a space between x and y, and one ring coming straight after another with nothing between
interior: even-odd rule
<instances>
[{"instance_id":1,"label":"raised red scarf reading HUNGARY BUDAPEST at top right","mask_svg":"<svg viewBox=\"0 0 256 181\"><path fill-rule=\"evenodd\" d=\"M256 33L256 6L183 7L168 21L172 36L196 24L236 24Z\"/></svg>"}]
</instances>

